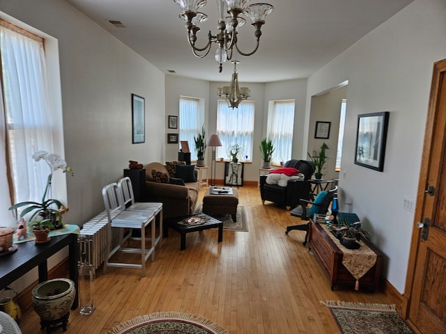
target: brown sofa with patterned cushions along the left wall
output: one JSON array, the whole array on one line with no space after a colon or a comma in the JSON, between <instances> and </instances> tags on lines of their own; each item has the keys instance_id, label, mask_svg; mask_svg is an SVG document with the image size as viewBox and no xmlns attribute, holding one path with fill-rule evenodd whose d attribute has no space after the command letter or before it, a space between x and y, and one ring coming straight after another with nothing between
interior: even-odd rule
<instances>
[{"instance_id":1,"label":"brown sofa with patterned cushions along the left wall","mask_svg":"<svg viewBox=\"0 0 446 334\"><path fill-rule=\"evenodd\" d=\"M176 177L172 170L159 162L152 162L144 166L146 168L146 189L144 200L148 202L162 202L163 218L187 216L194 213L197 205L199 182L185 182L185 185L166 183L164 175ZM153 170L158 173L154 177ZM197 171L194 171L197 179ZM187 181L187 180L186 180Z\"/></svg>"}]
</instances>

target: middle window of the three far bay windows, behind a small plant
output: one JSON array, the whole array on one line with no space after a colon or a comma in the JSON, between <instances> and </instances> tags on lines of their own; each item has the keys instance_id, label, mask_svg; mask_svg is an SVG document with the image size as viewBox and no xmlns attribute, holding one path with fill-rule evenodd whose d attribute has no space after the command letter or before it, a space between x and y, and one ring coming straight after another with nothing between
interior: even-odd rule
<instances>
[{"instance_id":1,"label":"middle window of the three far bay windows, behind a small plant","mask_svg":"<svg viewBox=\"0 0 446 334\"><path fill-rule=\"evenodd\" d=\"M253 134L254 101L240 102L238 108L229 108L224 100L217 102L217 135L222 142L217 158L229 159L228 148L239 144L244 149L242 161L252 161Z\"/></svg>"}]
</instances>

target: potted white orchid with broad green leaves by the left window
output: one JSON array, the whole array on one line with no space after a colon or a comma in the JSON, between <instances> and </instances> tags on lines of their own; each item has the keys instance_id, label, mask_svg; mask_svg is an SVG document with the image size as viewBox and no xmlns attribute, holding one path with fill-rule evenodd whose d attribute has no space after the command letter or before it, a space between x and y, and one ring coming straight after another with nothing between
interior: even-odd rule
<instances>
[{"instance_id":1,"label":"potted white orchid with broad green leaves by the left window","mask_svg":"<svg viewBox=\"0 0 446 334\"><path fill-rule=\"evenodd\" d=\"M74 173L72 168L68 167L66 161L63 160L58 154L49 154L46 151L38 151L33 154L33 159L36 162L40 160L45 161L49 166L49 170L51 171L47 178L47 186L45 187L45 192L43 193L42 202L20 202L13 205L9 209L21 209L20 219L24 218L24 216L27 214L30 214L31 216L29 216L28 221L31 228L34 230L54 228L53 222L58 222L57 225L62 224L61 209L65 209L66 207L59 200L47 198L49 189L51 189L53 173L57 170L62 170L63 173L68 173L70 175L74 175Z\"/></svg>"}]
</instances>

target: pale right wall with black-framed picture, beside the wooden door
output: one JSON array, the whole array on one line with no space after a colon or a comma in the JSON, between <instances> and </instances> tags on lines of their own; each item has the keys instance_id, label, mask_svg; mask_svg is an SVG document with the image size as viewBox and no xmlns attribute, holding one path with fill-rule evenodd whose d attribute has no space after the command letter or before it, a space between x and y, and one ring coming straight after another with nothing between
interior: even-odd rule
<instances>
[{"instance_id":1,"label":"pale right wall with black-framed picture, beside the wooden door","mask_svg":"<svg viewBox=\"0 0 446 334\"><path fill-rule=\"evenodd\" d=\"M385 254L383 274L403 293L433 63L446 58L446 1L417 0L309 77L312 96L348 79L341 201L366 221ZM357 115L390 111L383 173L353 164Z\"/></svg>"}]
</instances>

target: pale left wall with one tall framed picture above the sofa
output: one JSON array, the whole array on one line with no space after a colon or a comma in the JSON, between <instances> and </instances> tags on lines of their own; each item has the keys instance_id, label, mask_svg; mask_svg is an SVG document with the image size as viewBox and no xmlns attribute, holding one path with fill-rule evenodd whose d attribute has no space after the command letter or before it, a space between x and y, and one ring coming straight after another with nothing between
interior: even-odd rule
<instances>
[{"instance_id":1,"label":"pale left wall with one tall framed picture above the sofa","mask_svg":"<svg viewBox=\"0 0 446 334\"><path fill-rule=\"evenodd\" d=\"M0 9L59 42L65 158L75 171L64 222L82 225L104 210L102 186L129 160L164 160L164 74L66 1L2 0ZM145 143L132 144L132 93L146 99ZM36 278L33 271L15 289Z\"/></svg>"}]
</instances>

